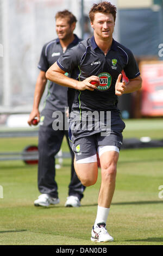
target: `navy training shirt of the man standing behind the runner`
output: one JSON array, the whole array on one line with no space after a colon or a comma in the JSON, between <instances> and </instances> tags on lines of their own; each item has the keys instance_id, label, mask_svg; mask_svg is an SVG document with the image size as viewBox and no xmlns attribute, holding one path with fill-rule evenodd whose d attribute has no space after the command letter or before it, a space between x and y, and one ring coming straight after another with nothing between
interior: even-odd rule
<instances>
[{"instance_id":1,"label":"navy training shirt of the man standing behind the runner","mask_svg":"<svg viewBox=\"0 0 163 256\"><path fill-rule=\"evenodd\" d=\"M79 39L78 36L74 34L74 40L68 45L66 51L77 45L80 41L82 41L82 39ZM62 54L63 49L58 38L47 42L42 48L38 68L46 72ZM65 112L66 106L67 88L48 81L48 92L44 102L44 108Z\"/></svg>"}]
</instances>

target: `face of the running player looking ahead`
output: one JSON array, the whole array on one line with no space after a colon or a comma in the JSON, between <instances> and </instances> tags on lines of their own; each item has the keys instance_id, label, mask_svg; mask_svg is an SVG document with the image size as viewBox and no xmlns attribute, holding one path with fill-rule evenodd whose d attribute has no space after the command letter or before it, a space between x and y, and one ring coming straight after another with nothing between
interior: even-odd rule
<instances>
[{"instance_id":1,"label":"face of the running player looking ahead","mask_svg":"<svg viewBox=\"0 0 163 256\"><path fill-rule=\"evenodd\" d=\"M94 33L103 40L112 38L114 26L115 22L112 14L95 13L95 19L91 22Z\"/></svg>"}]
</instances>

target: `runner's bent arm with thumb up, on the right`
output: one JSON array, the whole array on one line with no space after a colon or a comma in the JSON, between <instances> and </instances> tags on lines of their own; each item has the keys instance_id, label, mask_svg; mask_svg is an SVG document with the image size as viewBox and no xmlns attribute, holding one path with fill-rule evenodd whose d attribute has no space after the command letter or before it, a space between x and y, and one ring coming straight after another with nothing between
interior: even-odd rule
<instances>
[{"instance_id":1,"label":"runner's bent arm with thumb up, on the right","mask_svg":"<svg viewBox=\"0 0 163 256\"><path fill-rule=\"evenodd\" d=\"M127 84L124 81L121 82L121 78L122 74L118 76L115 85L115 94L117 96L121 96L122 94L126 93L133 93L141 88L142 78L140 76L137 76L134 79L130 79Z\"/></svg>"}]
</instances>

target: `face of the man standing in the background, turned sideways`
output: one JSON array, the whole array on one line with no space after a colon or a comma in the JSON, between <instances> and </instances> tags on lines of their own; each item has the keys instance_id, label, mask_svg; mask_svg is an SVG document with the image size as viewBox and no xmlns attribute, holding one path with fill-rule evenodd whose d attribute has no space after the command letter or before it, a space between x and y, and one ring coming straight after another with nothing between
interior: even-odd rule
<instances>
[{"instance_id":1,"label":"face of the man standing in the background, turned sideways","mask_svg":"<svg viewBox=\"0 0 163 256\"><path fill-rule=\"evenodd\" d=\"M67 40L73 33L74 26L70 25L67 19L58 18L55 22L56 32L60 40Z\"/></svg>"}]
</instances>

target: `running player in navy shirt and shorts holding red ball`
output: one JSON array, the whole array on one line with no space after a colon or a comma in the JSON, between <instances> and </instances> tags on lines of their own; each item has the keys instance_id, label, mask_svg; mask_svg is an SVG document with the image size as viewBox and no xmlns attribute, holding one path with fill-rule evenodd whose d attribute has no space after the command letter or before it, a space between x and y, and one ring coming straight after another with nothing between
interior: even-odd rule
<instances>
[{"instance_id":1,"label":"running player in navy shirt and shorts holding red ball","mask_svg":"<svg viewBox=\"0 0 163 256\"><path fill-rule=\"evenodd\" d=\"M74 167L84 186L91 186L97 181L98 152L101 187L91 240L108 242L114 240L106 229L106 221L115 191L116 167L125 128L117 108L118 96L139 90L142 79L133 53L112 38L116 20L115 5L106 1L93 4L89 16L94 31L92 38L80 42L62 55L47 70L46 77L69 87L69 99L73 99L70 104L70 145L75 154ZM122 81L122 70L129 78L127 84ZM71 74L71 78L66 77L65 72ZM91 84L91 81L96 83ZM92 116L95 112L99 113L99 117L104 113L104 124L107 124L110 116L108 133L107 125L106 131L103 126L95 129L97 115L93 119L92 129L89 125L86 129L79 129L74 124L77 121L80 121L80 125L85 124L85 113L90 112Z\"/></svg>"}]
</instances>

